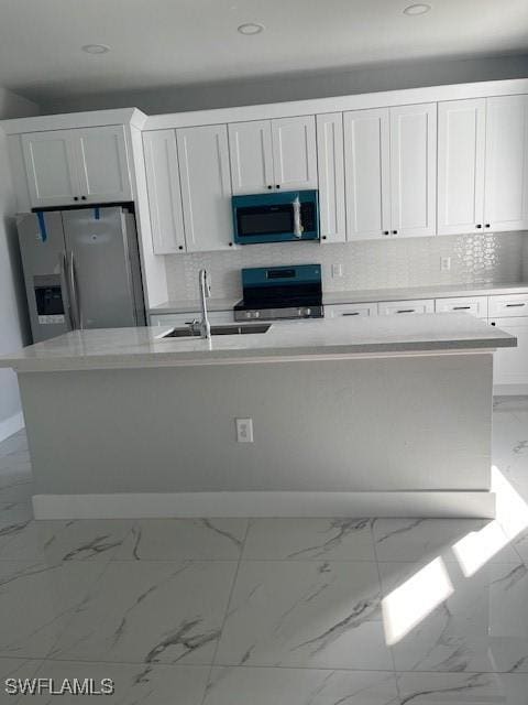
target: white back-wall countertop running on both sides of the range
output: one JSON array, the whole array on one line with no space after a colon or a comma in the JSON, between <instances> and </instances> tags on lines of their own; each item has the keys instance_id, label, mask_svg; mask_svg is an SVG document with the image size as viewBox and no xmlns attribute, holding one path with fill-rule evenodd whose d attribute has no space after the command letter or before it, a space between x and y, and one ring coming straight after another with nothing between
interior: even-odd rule
<instances>
[{"instance_id":1,"label":"white back-wall countertop running on both sides of the range","mask_svg":"<svg viewBox=\"0 0 528 705\"><path fill-rule=\"evenodd\" d=\"M438 284L433 286L399 286L397 289L358 289L353 291L331 291L322 295L323 304L359 304L376 301L406 301L410 299L446 299L449 296L493 296L498 294L525 294L528 282L501 282L485 284ZM232 299L208 299L209 311L231 311L241 295ZM200 311L197 300L182 299L166 301L153 306L151 314L195 313Z\"/></svg>"}]
</instances>

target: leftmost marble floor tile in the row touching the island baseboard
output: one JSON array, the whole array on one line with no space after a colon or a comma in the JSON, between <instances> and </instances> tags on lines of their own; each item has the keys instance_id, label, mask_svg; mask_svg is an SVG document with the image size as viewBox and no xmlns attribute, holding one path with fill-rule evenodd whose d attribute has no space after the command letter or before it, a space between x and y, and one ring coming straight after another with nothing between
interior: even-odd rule
<instances>
[{"instance_id":1,"label":"leftmost marble floor tile in the row touching the island baseboard","mask_svg":"<svg viewBox=\"0 0 528 705\"><path fill-rule=\"evenodd\" d=\"M125 519L15 522L6 542L0 529L0 560L109 561L132 528ZM10 535L9 535L10 534Z\"/></svg>"}]
</instances>

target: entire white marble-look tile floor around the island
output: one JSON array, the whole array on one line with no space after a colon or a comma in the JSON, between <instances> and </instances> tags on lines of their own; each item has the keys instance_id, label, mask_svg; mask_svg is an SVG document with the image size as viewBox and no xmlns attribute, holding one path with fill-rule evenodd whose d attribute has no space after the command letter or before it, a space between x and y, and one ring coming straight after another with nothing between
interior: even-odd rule
<instances>
[{"instance_id":1,"label":"entire white marble-look tile floor around the island","mask_svg":"<svg viewBox=\"0 0 528 705\"><path fill-rule=\"evenodd\" d=\"M528 398L496 400L494 463L494 522L35 522L16 434L0 703L79 702L4 693L42 676L111 677L80 701L120 705L528 705Z\"/></svg>"}]
</instances>

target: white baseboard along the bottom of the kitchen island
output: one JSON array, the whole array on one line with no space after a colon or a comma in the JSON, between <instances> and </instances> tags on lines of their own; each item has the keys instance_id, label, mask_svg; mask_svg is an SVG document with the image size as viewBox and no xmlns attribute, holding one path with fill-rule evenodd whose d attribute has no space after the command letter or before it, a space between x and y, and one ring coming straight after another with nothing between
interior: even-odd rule
<instances>
[{"instance_id":1,"label":"white baseboard along the bottom of the kitchen island","mask_svg":"<svg viewBox=\"0 0 528 705\"><path fill-rule=\"evenodd\" d=\"M35 495L35 519L464 517L493 519L488 491Z\"/></svg>"}]
</instances>

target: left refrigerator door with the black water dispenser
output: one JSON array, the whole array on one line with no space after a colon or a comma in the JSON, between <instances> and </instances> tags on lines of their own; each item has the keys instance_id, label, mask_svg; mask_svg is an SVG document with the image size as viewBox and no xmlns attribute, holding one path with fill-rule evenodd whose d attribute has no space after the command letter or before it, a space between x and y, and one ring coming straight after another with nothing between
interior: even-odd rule
<instances>
[{"instance_id":1,"label":"left refrigerator door with the black water dispenser","mask_svg":"<svg viewBox=\"0 0 528 705\"><path fill-rule=\"evenodd\" d=\"M33 341L72 329L66 252L59 212L21 216L20 252Z\"/></svg>"}]
</instances>

